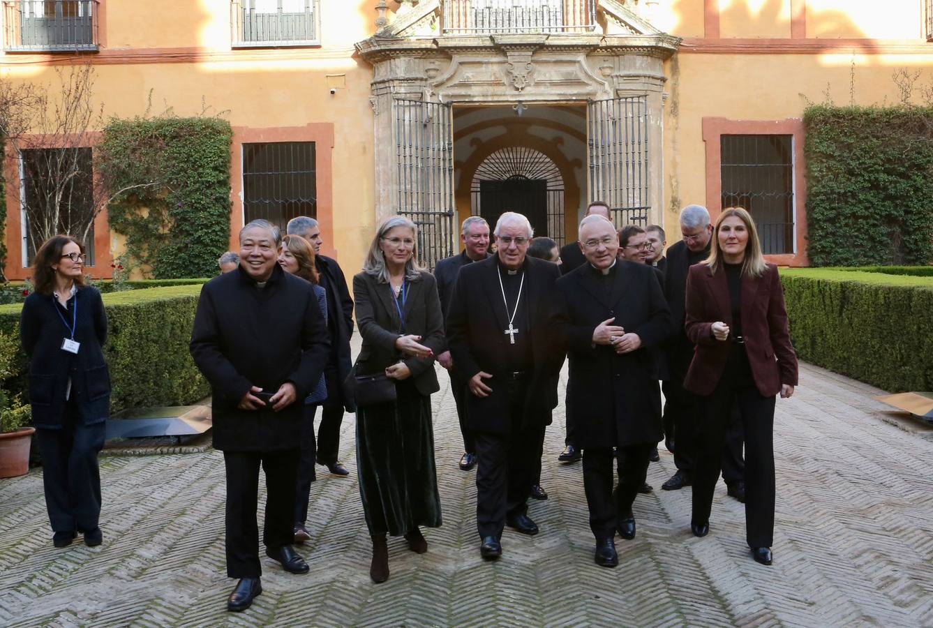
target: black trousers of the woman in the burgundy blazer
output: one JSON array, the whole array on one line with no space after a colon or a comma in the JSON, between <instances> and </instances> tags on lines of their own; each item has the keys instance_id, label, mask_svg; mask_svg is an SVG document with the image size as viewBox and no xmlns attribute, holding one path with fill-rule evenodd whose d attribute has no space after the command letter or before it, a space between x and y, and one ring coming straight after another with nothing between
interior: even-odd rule
<instances>
[{"instance_id":1,"label":"black trousers of the woman in the burgundy blazer","mask_svg":"<svg viewBox=\"0 0 933 628\"><path fill-rule=\"evenodd\" d=\"M737 404L745 428L745 540L750 548L771 547L774 533L774 398L762 397L745 366L727 364L722 379L703 398L697 466L693 478L693 523L708 523L719 479L722 450Z\"/></svg>"}]
</instances>

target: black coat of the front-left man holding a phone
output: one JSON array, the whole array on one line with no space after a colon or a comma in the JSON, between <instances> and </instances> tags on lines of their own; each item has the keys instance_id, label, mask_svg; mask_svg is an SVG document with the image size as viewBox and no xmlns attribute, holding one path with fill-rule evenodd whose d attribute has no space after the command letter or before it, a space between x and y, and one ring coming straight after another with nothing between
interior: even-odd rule
<instances>
[{"instance_id":1,"label":"black coat of the front-left man holding a phone","mask_svg":"<svg viewBox=\"0 0 933 628\"><path fill-rule=\"evenodd\" d=\"M191 356L211 384L214 446L229 452L298 447L302 400L321 378L330 352L313 287L278 264L264 288L242 268L204 285L191 331ZM295 384L281 412L240 410L253 385L275 392Z\"/></svg>"}]
</instances>

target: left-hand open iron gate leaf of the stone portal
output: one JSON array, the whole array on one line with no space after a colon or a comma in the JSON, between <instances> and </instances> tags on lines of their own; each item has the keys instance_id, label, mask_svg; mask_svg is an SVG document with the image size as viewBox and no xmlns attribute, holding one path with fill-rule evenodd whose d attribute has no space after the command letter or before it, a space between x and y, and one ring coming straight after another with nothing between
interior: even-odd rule
<instances>
[{"instance_id":1,"label":"left-hand open iron gate leaf of the stone portal","mask_svg":"<svg viewBox=\"0 0 933 628\"><path fill-rule=\"evenodd\" d=\"M418 226L418 257L434 269L453 255L451 105L396 100L398 214Z\"/></svg>"}]
</instances>

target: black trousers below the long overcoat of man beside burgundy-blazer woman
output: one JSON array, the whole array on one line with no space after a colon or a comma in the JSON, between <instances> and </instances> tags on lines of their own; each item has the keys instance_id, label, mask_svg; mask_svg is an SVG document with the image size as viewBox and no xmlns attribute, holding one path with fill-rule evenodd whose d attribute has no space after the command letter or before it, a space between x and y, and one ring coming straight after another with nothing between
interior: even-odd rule
<instances>
[{"instance_id":1,"label":"black trousers below the long overcoat of man beside burgundy-blazer woman","mask_svg":"<svg viewBox=\"0 0 933 628\"><path fill-rule=\"evenodd\" d=\"M596 541L616 536L619 524L632 518L632 504L648 474L652 444L620 447L587 447L583 450L583 489L590 509L590 529ZM619 486L613 490L613 457L619 469Z\"/></svg>"}]
</instances>

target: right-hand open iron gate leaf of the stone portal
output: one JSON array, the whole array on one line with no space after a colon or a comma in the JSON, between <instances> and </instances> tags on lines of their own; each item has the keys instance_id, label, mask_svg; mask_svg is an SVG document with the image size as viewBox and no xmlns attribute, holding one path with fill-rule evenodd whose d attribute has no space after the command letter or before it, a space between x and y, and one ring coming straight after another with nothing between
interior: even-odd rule
<instances>
[{"instance_id":1,"label":"right-hand open iron gate leaf of the stone portal","mask_svg":"<svg viewBox=\"0 0 933 628\"><path fill-rule=\"evenodd\" d=\"M648 97L590 101L590 200L605 201L617 228L648 224Z\"/></svg>"}]
</instances>

